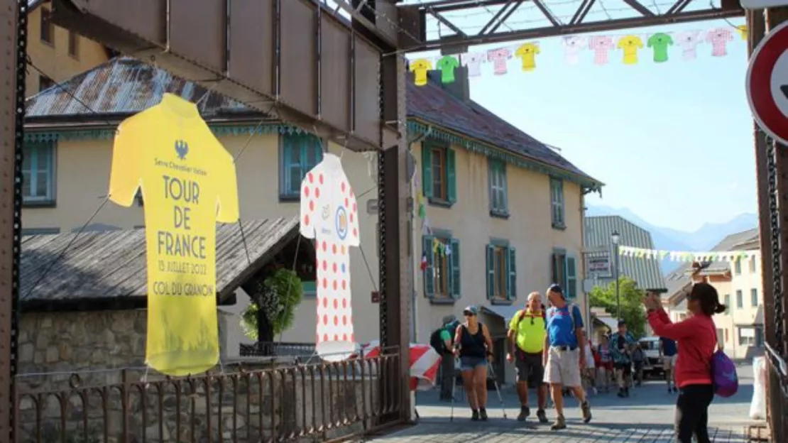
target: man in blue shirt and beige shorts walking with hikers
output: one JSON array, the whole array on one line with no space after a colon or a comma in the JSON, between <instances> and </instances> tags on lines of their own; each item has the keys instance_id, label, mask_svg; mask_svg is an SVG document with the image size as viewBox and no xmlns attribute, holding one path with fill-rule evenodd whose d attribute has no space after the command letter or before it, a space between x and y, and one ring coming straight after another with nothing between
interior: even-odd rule
<instances>
[{"instance_id":1,"label":"man in blue shirt and beige shorts walking with hikers","mask_svg":"<svg viewBox=\"0 0 788 443\"><path fill-rule=\"evenodd\" d=\"M564 385L580 401L583 423L591 421L591 407L585 399L580 378L580 371L585 369L585 333L580 308L567 303L559 285L551 285L547 297L552 307L547 311L547 336L542 359L545 363L545 383L550 385L552 401L556 404L556 423L551 429L561 430L567 427L563 418Z\"/></svg>"}]
</instances>

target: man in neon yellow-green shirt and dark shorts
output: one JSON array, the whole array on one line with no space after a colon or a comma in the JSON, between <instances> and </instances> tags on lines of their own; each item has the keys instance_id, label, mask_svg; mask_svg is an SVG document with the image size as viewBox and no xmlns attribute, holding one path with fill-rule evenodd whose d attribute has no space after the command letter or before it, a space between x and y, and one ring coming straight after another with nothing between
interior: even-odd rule
<instances>
[{"instance_id":1,"label":"man in neon yellow-green shirt and dark shorts","mask_svg":"<svg viewBox=\"0 0 788 443\"><path fill-rule=\"evenodd\" d=\"M509 323L509 352L506 359L515 363L517 370L517 394L520 398L519 421L525 421L531 414L528 406L528 385L537 389L537 419L547 423L547 385L545 385L545 367L542 366L542 354L545 350L545 317L542 313L539 292L531 292L528 296L526 309L517 311Z\"/></svg>"}]
</instances>

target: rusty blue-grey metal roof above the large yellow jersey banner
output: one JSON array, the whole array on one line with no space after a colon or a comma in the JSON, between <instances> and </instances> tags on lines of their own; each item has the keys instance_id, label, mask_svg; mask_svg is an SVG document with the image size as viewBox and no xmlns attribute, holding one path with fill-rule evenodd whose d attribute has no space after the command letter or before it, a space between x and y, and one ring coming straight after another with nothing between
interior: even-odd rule
<instances>
[{"instance_id":1,"label":"rusty blue-grey metal roof above the large yellow jersey banner","mask_svg":"<svg viewBox=\"0 0 788 443\"><path fill-rule=\"evenodd\" d=\"M237 100L134 58L113 58L25 100L26 118L125 117L162 101L165 92L197 102L203 117L259 114Z\"/></svg>"}]
</instances>

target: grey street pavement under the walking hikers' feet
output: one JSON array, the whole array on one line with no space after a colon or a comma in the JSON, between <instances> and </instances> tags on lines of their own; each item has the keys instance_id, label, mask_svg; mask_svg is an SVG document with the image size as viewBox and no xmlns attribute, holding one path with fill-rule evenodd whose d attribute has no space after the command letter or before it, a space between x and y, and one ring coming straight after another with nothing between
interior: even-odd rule
<instances>
[{"instance_id":1,"label":"grey street pavement under the walking hikers' feet","mask_svg":"<svg viewBox=\"0 0 788 443\"><path fill-rule=\"evenodd\" d=\"M762 424L749 419L749 407L753 398L753 368L740 366L739 389L730 398L717 396L709 409L709 434L712 441L742 442L745 428ZM506 443L515 441L673 441L673 421L675 400L678 394L667 393L664 381L645 382L640 387L630 389L629 398L619 398L617 390L611 387L610 393L590 395L593 419L582 423L577 400L565 399L567 429L552 431L550 423L537 423L536 396L530 393L531 417L525 423L516 420L519 414L519 401L513 386L501 388L504 408L495 391L489 392L487 411L489 421L471 422L470 410L464 401L457 400L452 416L451 402L438 400L437 391L418 393L418 423L390 434L368 436L366 441L381 443L399 442L464 442L484 441L485 443ZM464 400L464 399L463 399ZM504 419L504 411L507 419ZM555 411L548 410L548 419L555 417Z\"/></svg>"}]
</instances>

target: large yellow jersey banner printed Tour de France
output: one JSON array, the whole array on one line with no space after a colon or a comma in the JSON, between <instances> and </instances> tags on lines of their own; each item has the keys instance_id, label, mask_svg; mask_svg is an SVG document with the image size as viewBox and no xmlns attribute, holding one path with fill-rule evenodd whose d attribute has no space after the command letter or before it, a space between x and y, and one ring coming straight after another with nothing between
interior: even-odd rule
<instances>
[{"instance_id":1,"label":"large yellow jersey banner printed Tour de France","mask_svg":"<svg viewBox=\"0 0 788 443\"><path fill-rule=\"evenodd\" d=\"M216 222L238 221L232 156L176 95L121 123L110 199L125 207L141 189L147 242L148 365L196 374L219 359Z\"/></svg>"}]
</instances>

